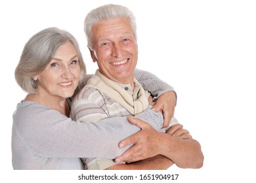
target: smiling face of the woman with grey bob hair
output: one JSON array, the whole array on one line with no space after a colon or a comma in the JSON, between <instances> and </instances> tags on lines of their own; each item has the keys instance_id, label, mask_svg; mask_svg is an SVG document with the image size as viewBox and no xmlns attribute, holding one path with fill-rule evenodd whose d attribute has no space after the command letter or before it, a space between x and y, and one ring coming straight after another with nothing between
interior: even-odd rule
<instances>
[{"instance_id":1,"label":"smiling face of the woman with grey bob hair","mask_svg":"<svg viewBox=\"0 0 256 183\"><path fill-rule=\"evenodd\" d=\"M80 72L77 52L68 41L58 47L43 72L33 77L37 80L37 93L48 98L71 97L77 88Z\"/></svg>"}]
</instances>

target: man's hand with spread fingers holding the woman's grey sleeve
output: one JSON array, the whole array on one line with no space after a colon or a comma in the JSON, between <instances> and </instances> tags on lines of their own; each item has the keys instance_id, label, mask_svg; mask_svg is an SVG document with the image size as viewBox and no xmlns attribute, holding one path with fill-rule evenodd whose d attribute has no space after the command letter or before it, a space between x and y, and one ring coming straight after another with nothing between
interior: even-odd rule
<instances>
[{"instance_id":1,"label":"man's hand with spread fingers holding the woman's grey sleeve","mask_svg":"<svg viewBox=\"0 0 256 183\"><path fill-rule=\"evenodd\" d=\"M123 148L129 144L134 144L125 151L121 156L116 158L116 162L120 161L133 162L141 159L150 158L159 154L161 148L158 147L161 141L160 133L156 131L151 125L138 118L128 118L131 124L137 125L141 128L141 131L135 133L131 137L124 139L119 143L119 147Z\"/></svg>"}]
</instances>

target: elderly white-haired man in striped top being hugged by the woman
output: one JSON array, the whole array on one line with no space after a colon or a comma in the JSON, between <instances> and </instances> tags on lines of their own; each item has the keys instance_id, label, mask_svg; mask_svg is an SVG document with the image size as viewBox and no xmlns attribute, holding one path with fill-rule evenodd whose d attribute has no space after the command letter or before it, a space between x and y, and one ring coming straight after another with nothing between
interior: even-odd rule
<instances>
[{"instance_id":1,"label":"elderly white-haired man in striped top being hugged by the woman","mask_svg":"<svg viewBox=\"0 0 256 183\"><path fill-rule=\"evenodd\" d=\"M120 5L98 7L85 18L85 33L98 70L74 98L72 118L97 122L113 116L134 116L154 105L150 93L135 78L138 46L132 12ZM177 124L175 118L171 120L173 126L164 133L140 120L130 121L142 131L125 139L120 147L135 145L116 158L116 162L84 159L88 169L167 169L173 163L183 168L202 167L200 144ZM165 122L165 126L169 122Z\"/></svg>"}]
</instances>

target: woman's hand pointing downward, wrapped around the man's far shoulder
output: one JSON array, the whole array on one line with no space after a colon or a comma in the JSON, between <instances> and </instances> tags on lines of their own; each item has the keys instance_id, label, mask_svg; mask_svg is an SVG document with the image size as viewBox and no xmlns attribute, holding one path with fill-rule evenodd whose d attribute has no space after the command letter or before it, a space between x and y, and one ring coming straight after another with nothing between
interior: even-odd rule
<instances>
[{"instance_id":1,"label":"woman's hand pointing downward, wrapped around the man's far shoulder","mask_svg":"<svg viewBox=\"0 0 256 183\"><path fill-rule=\"evenodd\" d=\"M154 110L155 112L161 110L163 113L163 127L169 126L171 118L173 118L175 105L175 92L169 91L161 94L160 97L158 97L156 104L153 106L152 110Z\"/></svg>"}]
</instances>

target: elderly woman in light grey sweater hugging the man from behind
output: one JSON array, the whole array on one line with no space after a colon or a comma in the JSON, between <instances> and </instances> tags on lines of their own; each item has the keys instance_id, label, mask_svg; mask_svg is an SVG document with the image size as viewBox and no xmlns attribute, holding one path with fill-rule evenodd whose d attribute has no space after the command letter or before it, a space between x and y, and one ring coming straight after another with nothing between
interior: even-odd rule
<instances>
[{"instance_id":1,"label":"elderly woman in light grey sweater hugging the man from behind","mask_svg":"<svg viewBox=\"0 0 256 183\"><path fill-rule=\"evenodd\" d=\"M80 157L113 159L127 150L118 147L119 141L140 130L127 122L127 118L108 118L94 124L68 118L70 97L77 84L84 82L85 75L77 41L67 31L54 27L44 29L26 43L15 71L18 85L28 95L18 103L13 114L14 169L84 169ZM163 86L160 90L171 90L154 75L141 71L138 76L146 90L150 90L151 85L144 78ZM146 119L144 116L149 115L162 118L152 110L137 117ZM150 120L148 118L156 128L161 125Z\"/></svg>"}]
</instances>

